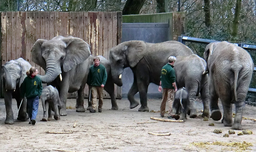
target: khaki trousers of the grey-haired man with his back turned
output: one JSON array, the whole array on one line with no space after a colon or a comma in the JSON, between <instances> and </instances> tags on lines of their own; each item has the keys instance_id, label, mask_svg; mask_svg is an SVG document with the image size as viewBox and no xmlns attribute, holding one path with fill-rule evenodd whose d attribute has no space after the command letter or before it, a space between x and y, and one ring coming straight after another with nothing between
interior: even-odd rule
<instances>
[{"instance_id":1,"label":"khaki trousers of the grey-haired man with his back turned","mask_svg":"<svg viewBox=\"0 0 256 152\"><path fill-rule=\"evenodd\" d=\"M174 89L170 89L170 88L162 88L162 89L163 89L163 93L162 93L162 103L160 105L160 115L164 115L164 113L165 113L166 101L168 101L168 108L169 108L168 115L172 115L172 104L174 101Z\"/></svg>"}]
</instances>

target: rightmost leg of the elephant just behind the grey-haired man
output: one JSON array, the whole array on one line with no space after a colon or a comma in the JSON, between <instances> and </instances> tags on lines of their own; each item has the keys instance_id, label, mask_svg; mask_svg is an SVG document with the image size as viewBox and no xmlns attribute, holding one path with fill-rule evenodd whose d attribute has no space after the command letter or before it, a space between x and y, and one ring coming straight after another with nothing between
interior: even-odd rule
<instances>
[{"instance_id":1,"label":"rightmost leg of the elephant just behind the grey-haired man","mask_svg":"<svg viewBox=\"0 0 256 152\"><path fill-rule=\"evenodd\" d=\"M202 117L210 118L210 112L209 112L209 87L208 85L204 85L204 87L201 89L200 94L203 101L203 114Z\"/></svg>"}]
</instances>

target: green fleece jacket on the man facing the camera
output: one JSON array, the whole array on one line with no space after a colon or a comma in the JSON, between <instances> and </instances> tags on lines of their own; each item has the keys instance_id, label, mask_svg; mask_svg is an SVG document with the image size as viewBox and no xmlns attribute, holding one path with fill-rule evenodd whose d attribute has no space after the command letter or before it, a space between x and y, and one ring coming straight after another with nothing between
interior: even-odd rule
<instances>
[{"instance_id":1,"label":"green fleece jacket on the man facing the camera","mask_svg":"<svg viewBox=\"0 0 256 152\"><path fill-rule=\"evenodd\" d=\"M105 66L99 65L90 67L88 84L91 86L105 85L107 81L107 70Z\"/></svg>"}]
</instances>

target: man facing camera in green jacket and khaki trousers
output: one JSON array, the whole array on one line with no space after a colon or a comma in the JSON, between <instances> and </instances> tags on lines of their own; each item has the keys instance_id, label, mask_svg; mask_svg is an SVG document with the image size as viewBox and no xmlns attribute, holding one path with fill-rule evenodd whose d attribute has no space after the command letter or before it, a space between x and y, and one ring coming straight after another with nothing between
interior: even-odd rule
<instances>
[{"instance_id":1,"label":"man facing camera in green jacket and khaki trousers","mask_svg":"<svg viewBox=\"0 0 256 152\"><path fill-rule=\"evenodd\" d=\"M96 112L97 107L97 94L99 96L98 112L102 112L103 105L103 88L107 81L107 71L105 66L99 64L99 57L96 56L94 59L94 65L90 67L88 84L91 86L92 92L92 109L91 113Z\"/></svg>"}]
</instances>

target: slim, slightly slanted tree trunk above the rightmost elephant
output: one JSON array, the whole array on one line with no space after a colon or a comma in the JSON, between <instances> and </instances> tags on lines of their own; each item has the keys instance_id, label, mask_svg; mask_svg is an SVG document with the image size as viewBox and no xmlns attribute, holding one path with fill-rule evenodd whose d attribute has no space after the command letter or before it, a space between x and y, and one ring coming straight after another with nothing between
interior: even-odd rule
<instances>
[{"instance_id":1,"label":"slim, slightly slanted tree trunk above the rightmost elephant","mask_svg":"<svg viewBox=\"0 0 256 152\"><path fill-rule=\"evenodd\" d=\"M235 15L234 15L232 33L231 33L233 40L237 36L237 28L238 28L238 21L239 21L240 10L241 10L241 2L242 2L242 0L236 0Z\"/></svg>"}]
</instances>

